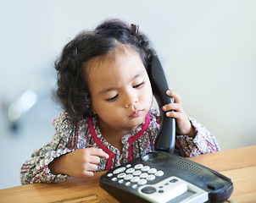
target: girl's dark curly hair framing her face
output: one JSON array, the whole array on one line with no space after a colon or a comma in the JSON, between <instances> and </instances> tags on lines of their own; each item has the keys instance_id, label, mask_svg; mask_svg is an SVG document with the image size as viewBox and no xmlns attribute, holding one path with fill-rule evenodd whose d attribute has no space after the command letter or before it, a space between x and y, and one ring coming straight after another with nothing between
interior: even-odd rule
<instances>
[{"instance_id":1,"label":"girl's dark curly hair framing her face","mask_svg":"<svg viewBox=\"0 0 256 203\"><path fill-rule=\"evenodd\" d=\"M60 58L55 62L58 72L56 96L74 121L92 116L90 93L83 76L86 64L92 58L104 56L120 46L134 49L142 58L146 69L155 54L147 36L138 30L137 25L128 25L120 19L109 19L95 30L81 31L64 47Z\"/></svg>"}]
</instances>

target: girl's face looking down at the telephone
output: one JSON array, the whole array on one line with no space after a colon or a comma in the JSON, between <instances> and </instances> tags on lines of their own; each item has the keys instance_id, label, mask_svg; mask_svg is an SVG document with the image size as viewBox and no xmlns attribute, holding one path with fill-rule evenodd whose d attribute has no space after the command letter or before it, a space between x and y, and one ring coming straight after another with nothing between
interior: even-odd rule
<instances>
[{"instance_id":1,"label":"girl's face looking down at the telephone","mask_svg":"<svg viewBox=\"0 0 256 203\"><path fill-rule=\"evenodd\" d=\"M86 72L97 124L104 129L130 133L144 121L152 106L153 92L147 71L139 55L131 49L97 59L92 59Z\"/></svg>"}]
</instances>

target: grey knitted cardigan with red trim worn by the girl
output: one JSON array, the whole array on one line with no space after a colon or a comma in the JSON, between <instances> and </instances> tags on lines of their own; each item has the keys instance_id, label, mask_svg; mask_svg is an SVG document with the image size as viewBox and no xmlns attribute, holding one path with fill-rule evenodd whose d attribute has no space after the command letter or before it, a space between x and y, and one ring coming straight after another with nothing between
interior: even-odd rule
<instances>
[{"instance_id":1,"label":"grey knitted cardigan with red trim worn by the girl","mask_svg":"<svg viewBox=\"0 0 256 203\"><path fill-rule=\"evenodd\" d=\"M68 175L54 175L50 172L48 164L53 159L71 151L87 147L97 147L109 154L109 159L100 157L97 172L109 170L123 163L154 150L154 141L159 132L156 122L157 111L152 110L147 114L144 122L130 134L122 137L123 151L120 151L104 139L97 126L97 118L85 118L78 123L73 123L67 112L53 120L56 134L53 140L35 151L29 160L21 167L21 184L58 183L69 178ZM196 120L189 118L196 130L194 139L188 135L176 135L175 154L179 156L198 156L200 154L220 151L219 144L213 134Z\"/></svg>"}]
</instances>

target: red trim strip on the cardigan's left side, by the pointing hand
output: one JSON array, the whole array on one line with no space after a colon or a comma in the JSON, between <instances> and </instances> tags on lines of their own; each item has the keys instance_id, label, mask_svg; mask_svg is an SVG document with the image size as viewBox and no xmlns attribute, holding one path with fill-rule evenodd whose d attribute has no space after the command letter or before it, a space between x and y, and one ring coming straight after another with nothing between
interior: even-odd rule
<instances>
[{"instance_id":1,"label":"red trim strip on the cardigan's left side, by the pointing hand","mask_svg":"<svg viewBox=\"0 0 256 203\"><path fill-rule=\"evenodd\" d=\"M106 170L109 170L112 168L112 165L113 165L114 152L110 151L109 148L106 145L104 145L103 142L101 140L99 140L99 138L97 137L92 118L88 118L88 125L89 125L90 133L92 134L92 139L103 151L105 151L107 154L109 154L109 159L107 162L107 166L105 168Z\"/></svg>"}]
</instances>

